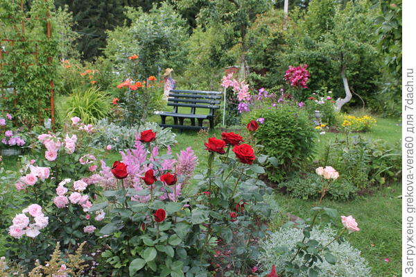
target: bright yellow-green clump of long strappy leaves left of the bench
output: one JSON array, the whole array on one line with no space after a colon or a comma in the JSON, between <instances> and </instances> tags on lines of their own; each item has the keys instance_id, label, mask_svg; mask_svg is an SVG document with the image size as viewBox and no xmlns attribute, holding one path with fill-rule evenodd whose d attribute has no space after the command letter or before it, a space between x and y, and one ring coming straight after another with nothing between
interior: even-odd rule
<instances>
[{"instance_id":1,"label":"bright yellow-green clump of long strappy leaves left of the bench","mask_svg":"<svg viewBox=\"0 0 416 277\"><path fill-rule=\"evenodd\" d=\"M96 120L103 119L110 112L110 97L96 87L90 87L84 91L73 92L61 107L66 119L80 117L80 119L91 124Z\"/></svg>"}]
</instances>

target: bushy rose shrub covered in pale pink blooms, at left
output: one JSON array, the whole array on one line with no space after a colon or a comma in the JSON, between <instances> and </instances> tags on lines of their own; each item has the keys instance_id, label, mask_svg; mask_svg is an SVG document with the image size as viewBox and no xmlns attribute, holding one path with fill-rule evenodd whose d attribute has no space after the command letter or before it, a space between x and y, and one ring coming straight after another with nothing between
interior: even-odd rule
<instances>
[{"instance_id":1,"label":"bushy rose shrub covered in pale pink blooms, at left","mask_svg":"<svg viewBox=\"0 0 416 277\"><path fill-rule=\"evenodd\" d=\"M56 242L69 247L68 251L85 240L94 244L94 236L86 234L91 233L91 227L85 233L80 231L98 221L90 220L88 214L94 197L100 194L94 185L98 160L92 153L85 153L94 126L83 124L78 117L71 121L64 126L67 133L38 136L38 142L32 145L35 156L23 160L21 176L15 183L16 189L24 192L23 203L37 203L13 219L9 233L15 239L6 244L8 256L26 268L35 260L46 260ZM26 213L33 217L28 226L24 226Z\"/></svg>"}]
</instances>

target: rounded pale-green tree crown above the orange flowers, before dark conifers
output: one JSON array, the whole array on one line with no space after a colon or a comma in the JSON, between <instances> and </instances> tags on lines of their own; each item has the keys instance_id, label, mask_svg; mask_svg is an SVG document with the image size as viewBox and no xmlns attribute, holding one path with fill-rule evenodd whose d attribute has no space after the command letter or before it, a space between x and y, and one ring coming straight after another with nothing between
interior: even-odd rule
<instances>
[{"instance_id":1,"label":"rounded pale-green tree crown above the orange flowers, before dark conifers","mask_svg":"<svg viewBox=\"0 0 416 277\"><path fill-rule=\"evenodd\" d=\"M187 62L188 38L184 19L164 2L150 12L128 9L131 26L109 31L105 55L114 62L119 72L132 79L160 74L166 67L181 72ZM137 60L128 60L137 55Z\"/></svg>"}]
</instances>

